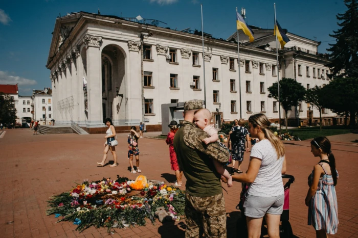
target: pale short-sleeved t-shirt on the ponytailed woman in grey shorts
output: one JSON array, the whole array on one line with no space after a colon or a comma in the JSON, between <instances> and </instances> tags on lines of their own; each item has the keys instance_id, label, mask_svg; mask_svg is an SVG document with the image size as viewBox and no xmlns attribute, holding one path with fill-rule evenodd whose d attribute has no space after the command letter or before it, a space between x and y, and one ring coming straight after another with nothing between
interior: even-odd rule
<instances>
[{"instance_id":1,"label":"pale short-sleeved t-shirt on the ponytailed woman in grey shorts","mask_svg":"<svg viewBox=\"0 0 358 238\"><path fill-rule=\"evenodd\" d=\"M248 194L257 197L276 197L284 194L281 177L284 156L277 159L275 147L269 140L256 143L251 149L252 157L261 160L255 181L249 185Z\"/></svg>"}]
</instances>

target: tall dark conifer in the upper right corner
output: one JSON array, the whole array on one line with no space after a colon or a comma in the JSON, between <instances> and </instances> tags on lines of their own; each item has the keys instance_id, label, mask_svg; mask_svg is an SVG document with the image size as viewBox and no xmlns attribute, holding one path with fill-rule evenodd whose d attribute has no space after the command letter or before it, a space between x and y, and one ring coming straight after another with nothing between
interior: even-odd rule
<instances>
[{"instance_id":1,"label":"tall dark conifer in the upper right corner","mask_svg":"<svg viewBox=\"0 0 358 238\"><path fill-rule=\"evenodd\" d=\"M331 78L335 75L358 77L358 1L344 0L344 4L348 10L336 16L341 28L329 35L336 41L327 49Z\"/></svg>"}]
</instances>

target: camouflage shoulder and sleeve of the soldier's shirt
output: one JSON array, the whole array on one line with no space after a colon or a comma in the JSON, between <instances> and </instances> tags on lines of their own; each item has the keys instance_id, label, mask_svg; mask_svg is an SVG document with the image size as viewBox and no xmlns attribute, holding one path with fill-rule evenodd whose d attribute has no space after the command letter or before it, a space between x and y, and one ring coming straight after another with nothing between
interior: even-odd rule
<instances>
[{"instance_id":1,"label":"camouflage shoulder and sleeve of the soldier's shirt","mask_svg":"<svg viewBox=\"0 0 358 238\"><path fill-rule=\"evenodd\" d=\"M197 128L194 123L182 120L180 121L180 125L181 127L184 126L184 143L188 147L197 149L198 151L207 154L222 164L228 163L228 149L220 146L218 142L206 145L203 142L203 139L207 138L208 134L204 130Z\"/></svg>"}]
</instances>

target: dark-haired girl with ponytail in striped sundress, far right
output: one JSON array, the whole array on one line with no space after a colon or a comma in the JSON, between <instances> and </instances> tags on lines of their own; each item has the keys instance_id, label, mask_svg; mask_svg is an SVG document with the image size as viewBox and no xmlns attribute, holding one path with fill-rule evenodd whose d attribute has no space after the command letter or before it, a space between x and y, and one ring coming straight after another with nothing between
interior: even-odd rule
<instances>
[{"instance_id":1,"label":"dark-haired girl with ponytail in striped sundress, far right","mask_svg":"<svg viewBox=\"0 0 358 238\"><path fill-rule=\"evenodd\" d=\"M337 233L338 206L335 195L338 172L331 144L326 137L318 137L311 141L311 152L320 157L320 162L308 177L309 190L306 196L308 206L308 225L316 230L316 237L328 237Z\"/></svg>"}]
</instances>

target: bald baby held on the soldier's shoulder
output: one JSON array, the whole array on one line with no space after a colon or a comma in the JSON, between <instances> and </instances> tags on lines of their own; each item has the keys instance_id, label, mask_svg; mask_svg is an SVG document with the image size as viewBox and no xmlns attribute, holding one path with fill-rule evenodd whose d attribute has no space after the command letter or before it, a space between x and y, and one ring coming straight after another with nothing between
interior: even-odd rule
<instances>
[{"instance_id":1,"label":"bald baby held on the soldier's shoulder","mask_svg":"<svg viewBox=\"0 0 358 238\"><path fill-rule=\"evenodd\" d=\"M204 130L210 137L205 138L203 142L207 145L216 142L219 137L214 125L211 122L211 112L208 109L200 109L194 113L194 123L197 127ZM230 173L217 160L213 159L216 171L228 180L228 187L233 186L232 177Z\"/></svg>"}]
</instances>

